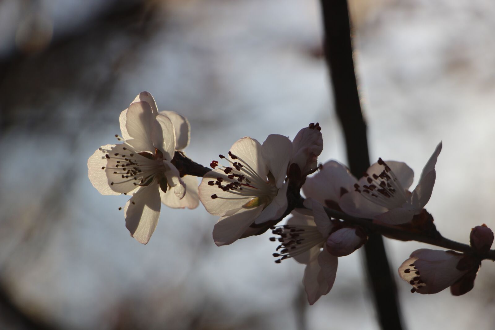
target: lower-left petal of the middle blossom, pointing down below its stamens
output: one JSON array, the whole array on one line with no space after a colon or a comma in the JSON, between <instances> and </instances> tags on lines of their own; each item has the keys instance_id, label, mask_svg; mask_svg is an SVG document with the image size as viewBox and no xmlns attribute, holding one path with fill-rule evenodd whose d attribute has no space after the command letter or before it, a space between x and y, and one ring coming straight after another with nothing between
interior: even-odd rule
<instances>
[{"instance_id":1,"label":"lower-left petal of the middle blossom, pointing down below its stamens","mask_svg":"<svg viewBox=\"0 0 495 330\"><path fill-rule=\"evenodd\" d=\"M246 232L261 211L263 211L262 206L245 208L234 215L220 218L213 228L215 244L221 246L235 242Z\"/></svg>"}]
</instances>

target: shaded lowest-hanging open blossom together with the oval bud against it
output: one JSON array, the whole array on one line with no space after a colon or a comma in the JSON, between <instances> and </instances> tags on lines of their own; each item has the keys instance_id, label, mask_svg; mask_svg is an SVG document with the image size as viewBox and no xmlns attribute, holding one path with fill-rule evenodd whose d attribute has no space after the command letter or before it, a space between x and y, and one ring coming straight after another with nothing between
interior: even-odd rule
<instances>
[{"instance_id":1,"label":"shaded lowest-hanging open blossom together with the oval bud against it","mask_svg":"<svg viewBox=\"0 0 495 330\"><path fill-rule=\"evenodd\" d=\"M312 210L301 210L304 214L293 212L294 216L286 225L272 227L272 233L280 236L280 245L273 256L279 258L276 263L294 258L306 265L302 283L312 305L332 288L337 274L337 257L352 253L366 237L361 236L360 229L339 229L339 223L336 226L330 221L323 206L314 199L307 198L304 205Z\"/></svg>"}]
</instances>

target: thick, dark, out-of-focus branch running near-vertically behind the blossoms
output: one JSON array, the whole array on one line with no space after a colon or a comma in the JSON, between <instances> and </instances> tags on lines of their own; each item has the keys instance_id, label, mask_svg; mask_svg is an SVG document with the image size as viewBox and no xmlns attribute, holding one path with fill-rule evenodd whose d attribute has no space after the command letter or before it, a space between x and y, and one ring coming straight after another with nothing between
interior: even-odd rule
<instances>
[{"instance_id":1,"label":"thick, dark, out-of-focus branch running near-vertically behind the blossoms","mask_svg":"<svg viewBox=\"0 0 495 330\"><path fill-rule=\"evenodd\" d=\"M370 165L364 122L352 58L347 0L321 0L325 30L325 55L330 69L335 109L346 138L349 169L356 177ZM400 330L401 317L396 285L382 236L371 234L365 245L368 279L373 288L382 329Z\"/></svg>"}]
</instances>

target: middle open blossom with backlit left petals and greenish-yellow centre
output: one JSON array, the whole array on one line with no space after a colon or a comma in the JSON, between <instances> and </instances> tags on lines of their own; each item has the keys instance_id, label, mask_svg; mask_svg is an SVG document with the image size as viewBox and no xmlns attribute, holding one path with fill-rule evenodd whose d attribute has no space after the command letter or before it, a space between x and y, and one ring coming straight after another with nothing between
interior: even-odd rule
<instances>
[{"instance_id":1,"label":"middle open blossom with backlit left petals and greenish-yellow centre","mask_svg":"<svg viewBox=\"0 0 495 330\"><path fill-rule=\"evenodd\" d=\"M291 152L292 142L288 138L272 134L263 144L251 138L235 142L228 157L219 155L230 166L211 162L214 170L204 175L199 199L209 213L220 216L213 228L215 244L231 244L249 226L284 214L288 186L284 180Z\"/></svg>"}]
</instances>

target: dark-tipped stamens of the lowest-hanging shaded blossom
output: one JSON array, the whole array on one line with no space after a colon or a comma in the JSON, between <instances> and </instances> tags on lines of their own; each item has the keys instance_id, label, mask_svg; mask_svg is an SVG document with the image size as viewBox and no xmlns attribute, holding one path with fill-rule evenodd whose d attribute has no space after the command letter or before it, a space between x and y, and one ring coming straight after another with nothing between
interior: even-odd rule
<instances>
[{"instance_id":1,"label":"dark-tipped stamens of the lowest-hanging shaded blossom","mask_svg":"<svg viewBox=\"0 0 495 330\"><path fill-rule=\"evenodd\" d=\"M303 252L306 252L313 246L322 244L325 238L318 231L316 226L307 225L283 225L272 227L272 233L280 236L270 237L274 242L278 240L280 245L277 246L277 253L273 253L274 257L280 257L275 260L279 264L284 259L295 257Z\"/></svg>"}]
</instances>

